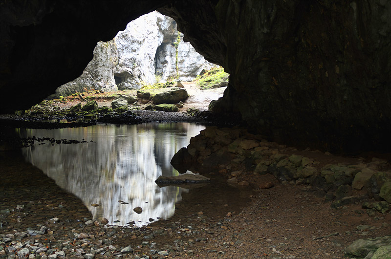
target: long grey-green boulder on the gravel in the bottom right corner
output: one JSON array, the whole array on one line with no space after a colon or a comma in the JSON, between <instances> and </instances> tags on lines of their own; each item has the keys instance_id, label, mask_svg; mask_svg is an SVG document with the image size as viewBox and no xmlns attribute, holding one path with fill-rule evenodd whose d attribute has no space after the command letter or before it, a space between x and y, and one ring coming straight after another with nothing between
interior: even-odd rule
<instances>
[{"instance_id":1,"label":"long grey-green boulder on the gravel in the bottom right corner","mask_svg":"<svg viewBox=\"0 0 391 259\"><path fill-rule=\"evenodd\" d=\"M345 248L345 256L357 259L365 258L370 251L376 251L381 246L391 245L391 236L372 239L358 239Z\"/></svg>"}]
</instances>

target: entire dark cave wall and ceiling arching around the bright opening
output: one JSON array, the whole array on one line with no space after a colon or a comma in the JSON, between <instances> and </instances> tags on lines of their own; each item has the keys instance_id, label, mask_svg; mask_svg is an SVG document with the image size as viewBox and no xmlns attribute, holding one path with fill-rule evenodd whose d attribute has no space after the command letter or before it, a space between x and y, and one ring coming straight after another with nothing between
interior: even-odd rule
<instances>
[{"instance_id":1,"label":"entire dark cave wall and ceiling arching around the bright opening","mask_svg":"<svg viewBox=\"0 0 391 259\"><path fill-rule=\"evenodd\" d=\"M155 8L231 74L224 107L249 128L301 147L389 150L386 0L2 1L0 89L17 87L21 101L0 110L28 108L76 78L96 42Z\"/></svg>"}]
</instances>

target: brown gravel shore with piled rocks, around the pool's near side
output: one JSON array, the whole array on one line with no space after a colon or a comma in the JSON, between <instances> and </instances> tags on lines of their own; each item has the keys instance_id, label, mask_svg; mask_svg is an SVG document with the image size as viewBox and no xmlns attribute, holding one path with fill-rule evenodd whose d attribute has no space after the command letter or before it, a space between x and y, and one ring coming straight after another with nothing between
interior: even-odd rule
<instances>
[{"instance_id":1,"label":"brown gravel shore with piled rocks, around the pool's near side","mask_svg":"<svg viewBox=\"0 0 391 259\"><path fill-rule=\"evenodd\" d=\"M194 173L222 178L251 202L208 202L208 194L198 204L185 198L169 220L108 226L41 171L3 153L0 258L376 259L388 249L388 160L299 151L216 126L192 138L187 152ZM15 187L18 179L29 182ZM385 241L347 248L369 238Z\"/></svg>"}]
</instances>

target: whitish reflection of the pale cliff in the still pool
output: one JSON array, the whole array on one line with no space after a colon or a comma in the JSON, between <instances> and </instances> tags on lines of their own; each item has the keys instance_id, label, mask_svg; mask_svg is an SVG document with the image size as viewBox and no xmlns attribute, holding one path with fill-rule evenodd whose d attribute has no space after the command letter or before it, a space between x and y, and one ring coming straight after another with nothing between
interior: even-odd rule
<instances>
[{"instance_id":1,"label":"whitish reflection of the pale cliff in the still pool","mask_svg":"<svg viewBox=\"0 0 391 259\"><path fill-rule=\"evenodd\" d=\"M134 220L140 226L151 217L174 214L183 189L159 188L154 181L162 174L177 174L170 164L172 156L202 129L201 125L188 123L148 123L20 132L23 137L87 140L80 144L36 145L22 152L60 187L80 197L94 218L103 216L110 224L118 225ZM92 207L92 203L100 206ZM143 208L140 215L133 212L137 206ZM119 222L113 223L116 220Z\"/></svg>"}]
</instances>

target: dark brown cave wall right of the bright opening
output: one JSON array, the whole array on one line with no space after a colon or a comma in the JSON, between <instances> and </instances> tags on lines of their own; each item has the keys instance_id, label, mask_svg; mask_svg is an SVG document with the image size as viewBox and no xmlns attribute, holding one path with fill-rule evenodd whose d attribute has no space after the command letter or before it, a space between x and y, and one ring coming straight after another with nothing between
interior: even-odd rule
<instances>
[{"instance_id":1,"label":"dark brown cave wall right of the bright opening","mask_svg":"<svg viewBox=\"0 0 391 259\"><path fill-rule=\"evenodd\" d=\"M299 147L390 150L390 1L214 3L160 12L231 74L225 103L249 128Z\"/></svg>"}]
</instances>

